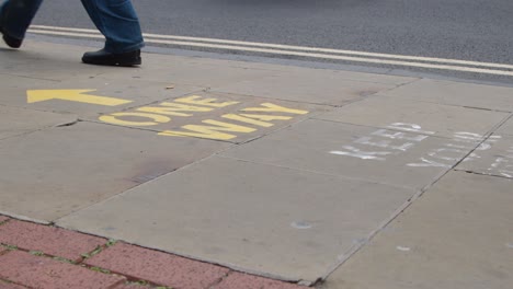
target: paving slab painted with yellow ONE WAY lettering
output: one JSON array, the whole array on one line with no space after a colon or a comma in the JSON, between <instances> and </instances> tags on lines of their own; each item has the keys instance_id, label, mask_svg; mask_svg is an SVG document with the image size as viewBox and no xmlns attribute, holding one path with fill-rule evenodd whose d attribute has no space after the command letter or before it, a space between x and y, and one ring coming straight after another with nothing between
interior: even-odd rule
<instances>
[{"instance_id":1,"label":"paving slab painted with yellow ONE WAY lettering","mask_svg":"<svg viewBox=\"0 0 513 289\"><path fill-rule=\"evenodd\" d=\"M197 137L243 142L331 108L203 92L103 115L99 120L156 130L163 137Z\"/></svg>"}]
</instances>

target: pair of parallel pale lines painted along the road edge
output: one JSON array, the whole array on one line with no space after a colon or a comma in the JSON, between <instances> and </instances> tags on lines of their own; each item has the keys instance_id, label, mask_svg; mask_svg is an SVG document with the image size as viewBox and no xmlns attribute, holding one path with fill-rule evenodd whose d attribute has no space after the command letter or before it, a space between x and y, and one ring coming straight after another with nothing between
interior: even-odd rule
<instances>
[{"instance_id":1,"label":"pair of parallel pale lines painted along the road edge","mask_svg":"<svg viewBox=\"0 0 513 289\"><path fill-rule=\"evenodd\" d=\"M46 35L103 38L103 36L96 31L83 30L83 28L31 26L31 30L29 30L29 32L35 33L35 34L46 34ZM273 45L273 44L262 44L262 43L223 41L223 39L212 39L212 38L156 35L156 34L145 34L145 38L147 43L156 43L156 44L169 44L169 45L193 46L193 47L216 48L216 49L230 49L230 50L253 51L253 53L264 53L264 54L275 54L275 55L287 55L287 56L301 56L301 57L309 57L309 58L334 59L334 60L367 62L367 63L377 63L377 65L394 65L394 66L402 66L402 67L430 68L430 69L453 70L453 71L486 73L486 74L497 74L497 76L513 76L513 71L488 69L491 67L513 69L513 66L500 65L500 63L487 63L487 62L475 62L475 61L466 61L466 60L428 58L428 57L384 55L384 54L360 53L360 51L350 51L350 50L337 50L337 49ZM179 39L179 41L168 41L168 39ZM181 41L181 39L184 39L184 41ZM208 43L205 43L205 42L208 42ZM229 44L237 44L237 45L229 45ZM247 46L240 46L240 45L248 45L248 46L254 46L254 47L247 47ZM259 48L259 47L263 47L263 48ZM304 51L273 49L273 48L289 48L289 47L293 47L294 49L298 49L298 50L301 49ZM341 55L306 53L307 50L330 51L330 53L338 53ZM344 56L343 54L353 55L353 56ZM391 58L391 59L399 59L399 60L366 58L366 57L355 57L355 56L372 56L372 57ZM441 65L404 61L404 60L432 61L432 62L441 62ZM475 66L475 67L452 66L452 65L446 65L446 63L460 63L460 65ZM480 67L480 68L477 68L477 67Z\"/></svg>"}]
</instances>

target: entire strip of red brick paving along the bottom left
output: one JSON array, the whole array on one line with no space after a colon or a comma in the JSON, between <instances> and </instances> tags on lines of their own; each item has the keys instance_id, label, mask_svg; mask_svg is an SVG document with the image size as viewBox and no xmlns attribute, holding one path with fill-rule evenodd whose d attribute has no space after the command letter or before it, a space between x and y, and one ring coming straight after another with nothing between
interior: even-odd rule
<instances>
[{"instance_id":1,"label":"entire strip of red brick paving along the bottom left","mask_svg":"<svg viewBox=\"0 0 513 289\"><path fill-rule=\"evenodd\" d=\"M9 221L0 226L0 242L15 245L19 250L0 246L0 289L150 289L156 286L174 289L305 289L123 242L83 261L80 254L106 244L106 240L0 216L0 222L4 220ZM25 251L42 251L78 264L35 256ZM109 269L111 274L90 267ZM127 280L141 280L148 285Z\"/></svg>"}]
</instances>

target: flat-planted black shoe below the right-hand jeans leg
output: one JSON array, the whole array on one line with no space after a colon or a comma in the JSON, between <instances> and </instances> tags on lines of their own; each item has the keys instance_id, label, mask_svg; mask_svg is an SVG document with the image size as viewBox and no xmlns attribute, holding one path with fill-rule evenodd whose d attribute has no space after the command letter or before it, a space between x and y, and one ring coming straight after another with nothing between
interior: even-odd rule
<instances>
[{"instance_id":1,"label":"flat-planted black shoe below the right-hand jeans leg","mask_svg":"<svg viewBox=\"0 0 513 289\"><path fill-rule=\"evenodd\" d=\"M83 54L82 62L96 66L140 66L140 49L123 54L111 54L104 49L100 49Z\"/></svg>"}]
</instances>

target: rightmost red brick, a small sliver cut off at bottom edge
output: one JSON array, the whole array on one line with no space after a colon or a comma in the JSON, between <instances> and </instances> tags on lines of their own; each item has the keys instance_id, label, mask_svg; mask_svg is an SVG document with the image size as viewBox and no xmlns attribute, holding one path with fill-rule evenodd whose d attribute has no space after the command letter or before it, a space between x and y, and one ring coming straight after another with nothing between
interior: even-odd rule
<instances>
[{"instance_id":1,"label":"rightmost red brick, a small sliver cut off at bottom edge","mask_svg":"<svg viewBox=\"0 0 513 289\"><path fill-rule=\"evenodd\" d=\"M242 273L231 273L212 289L305 289L306 287Z\"/></svg>"}]
</instances>

